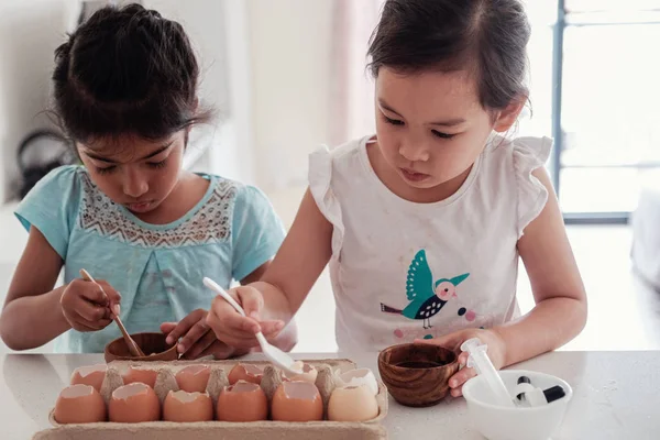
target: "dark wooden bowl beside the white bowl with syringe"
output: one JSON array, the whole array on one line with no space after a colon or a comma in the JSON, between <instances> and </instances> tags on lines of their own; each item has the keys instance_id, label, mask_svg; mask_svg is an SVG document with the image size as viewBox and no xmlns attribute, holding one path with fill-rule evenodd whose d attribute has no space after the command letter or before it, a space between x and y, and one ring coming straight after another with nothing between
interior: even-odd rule
<instances>
[{"instance_id":1,"label":"dark wooden bowl beside the white bowl with syringe","mask_svg":"<svg viewBox=\"0 0 660 440\"><path fill-rule=\"evenodd\" d=\"M400 344L381 352L378 371L396 402L428 407L449 393L449 378L459 371L459 359L453 351L438 345Z\"/></svg>"}]
</instances>

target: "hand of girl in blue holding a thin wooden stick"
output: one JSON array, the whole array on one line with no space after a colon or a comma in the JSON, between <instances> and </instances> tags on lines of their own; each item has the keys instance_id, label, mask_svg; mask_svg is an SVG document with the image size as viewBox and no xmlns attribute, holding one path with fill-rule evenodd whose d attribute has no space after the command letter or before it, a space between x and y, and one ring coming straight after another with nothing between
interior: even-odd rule
<instances>
[{"instance_id":1,"label":"hand of girl in blue holding a thin wooden stick","mask_svg":"<svg viewBox=\"0 0 660 440\"><path fill-rule=\"evenodd\" d=\"M107 282L98 279L97 283L74 279L66 286L59 305L67 322L74 330L98 331L112 322L112 312L119 311L121 295Z\"/></svg>"}]
</instances>

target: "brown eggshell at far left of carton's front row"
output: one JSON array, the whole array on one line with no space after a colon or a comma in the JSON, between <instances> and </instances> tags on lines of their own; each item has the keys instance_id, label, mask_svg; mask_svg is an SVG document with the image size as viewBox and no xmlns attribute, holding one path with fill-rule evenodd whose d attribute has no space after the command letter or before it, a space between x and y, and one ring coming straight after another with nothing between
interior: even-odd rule
<instances>
[{"instance_id":1,"label":"brown eggshell at far left of carton's front row","mask_svg":"<svg viewBox=\"0 0 660 440\"><path fill-rule=\"evenodd\" d=\"M106 403L94 386L76 384L59 393L53 416L63 425L106 421Z\"/></svg>"}]
</instances>

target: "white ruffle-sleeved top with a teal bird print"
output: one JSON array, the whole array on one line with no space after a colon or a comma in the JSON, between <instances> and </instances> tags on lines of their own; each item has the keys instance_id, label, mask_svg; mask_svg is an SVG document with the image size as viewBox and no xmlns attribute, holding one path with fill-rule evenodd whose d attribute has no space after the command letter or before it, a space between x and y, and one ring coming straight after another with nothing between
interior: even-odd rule
<instances>
[{"instance_id":1,"label":"white ruffle-sleeved top with a teal bird print","mask_svg":"<svg viewBox=\"0 0 660 440\"><path fill-rule=\"evenodd\" d=\"M310 155L310 190L333 226L339 350L382 350L516 318L517 241L548 200L531 172L552 141L495 136L454 195L416 204L378 179L366 153L372 139Z\"/></svg>"}]
</instances>

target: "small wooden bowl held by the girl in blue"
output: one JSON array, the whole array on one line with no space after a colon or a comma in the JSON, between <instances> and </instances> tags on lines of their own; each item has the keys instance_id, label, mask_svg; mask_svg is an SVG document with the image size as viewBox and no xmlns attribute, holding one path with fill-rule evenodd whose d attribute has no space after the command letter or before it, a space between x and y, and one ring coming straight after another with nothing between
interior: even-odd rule
<instances>
[{"instance_id":1,"label":"small wooden bowl held by the girl in blue","mask_svg":"<svg viewBox=\"0 0 660 440\"><path fill-rule=\"evenodd\" d=\"M129 351L127 341L123 338L118 338L106 345L106 362L112 361L176 361L178 352L176 344L168 345L165 342L167 338L163 333L135 333L131 334L133 341L146 354L145 356L133 356ZM151 354L155 353L155 354Z\"/></svg>"}]
</instances>

